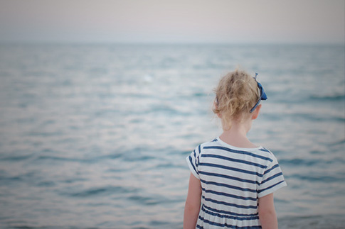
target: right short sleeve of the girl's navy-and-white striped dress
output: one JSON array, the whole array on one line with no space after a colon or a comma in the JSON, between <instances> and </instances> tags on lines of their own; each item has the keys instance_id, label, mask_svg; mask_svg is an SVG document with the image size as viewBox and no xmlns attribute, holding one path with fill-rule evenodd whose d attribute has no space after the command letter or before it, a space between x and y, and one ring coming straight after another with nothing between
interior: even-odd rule
<instances>
[{"instance_id":1,"label":"right short sleeve of the girl's navy-and-white striped dress","mask_svg":"<svg viewBox=\"0 0 345 229\"><path fill-rule=\"evenodd\" d=\"M271 194L284 186L287 186L287 184L282 174L282 169L280 169L277 159L273 156L272 162L268 164L262 176L258 197L260 198Z\"/></svg>"}]
</instances>

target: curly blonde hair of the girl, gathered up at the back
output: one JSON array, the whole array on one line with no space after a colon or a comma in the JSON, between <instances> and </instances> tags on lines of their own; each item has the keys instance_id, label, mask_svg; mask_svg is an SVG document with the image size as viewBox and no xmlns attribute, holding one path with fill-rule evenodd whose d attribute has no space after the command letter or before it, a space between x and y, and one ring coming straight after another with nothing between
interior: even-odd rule
<instances>
[{"instance_id":1,"label":"curly blonde hair of the girl, gathered up at the back","mask_svg":"<svg viewBox=\"0 0 345 229\"><path fill-rule=\"evenodd\" d=\"M225 74L214 91L216 99L213 112L221 115L228 128L233 121L243 121L249 117L250 109L260 96L256 80L238 69Z\"/></svg>"}]
</instances>

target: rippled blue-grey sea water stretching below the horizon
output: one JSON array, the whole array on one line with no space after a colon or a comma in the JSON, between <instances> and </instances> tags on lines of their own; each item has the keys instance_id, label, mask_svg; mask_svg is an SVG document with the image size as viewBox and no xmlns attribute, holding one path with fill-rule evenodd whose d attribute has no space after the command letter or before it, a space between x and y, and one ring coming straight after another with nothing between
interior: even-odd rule
<instances>
[{"instance_id":1,"label":"rippled blue-grey sea water stretching below the horizon","mask_svg":"<svg viewBox=\"0 0 345 229\"><path fill-rule=\"evenodd\" d=\"M345 226L344 45L0 45L0 228L182 228L213 88L265 87L249 138L288 186L280 228Z\"/></svg>"}]
</instances>

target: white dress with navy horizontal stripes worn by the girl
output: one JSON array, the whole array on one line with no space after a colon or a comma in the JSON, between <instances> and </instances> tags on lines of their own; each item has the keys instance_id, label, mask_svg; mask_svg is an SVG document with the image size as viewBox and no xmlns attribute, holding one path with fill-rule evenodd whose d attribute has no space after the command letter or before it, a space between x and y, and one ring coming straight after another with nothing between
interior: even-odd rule
<instances>
[{"instance_id":1,"label":"white dress with navy horizontal stripes worn by the girl","mask_svg":"<svg viewBox=\"0 0 345 229\"><path fill-rule=\"evenodd\" d=\"M261 228L258 198L287 185L264 147L233 147L216 138L198 145L186 160L201 181L196 228Z\"/></svg>"}]
</instances>

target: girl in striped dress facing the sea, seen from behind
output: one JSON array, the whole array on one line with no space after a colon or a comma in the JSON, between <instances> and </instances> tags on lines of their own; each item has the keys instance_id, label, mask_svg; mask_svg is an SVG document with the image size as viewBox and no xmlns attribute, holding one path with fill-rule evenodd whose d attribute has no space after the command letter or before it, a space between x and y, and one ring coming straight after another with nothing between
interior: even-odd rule
<instances>
[{"instance_id":1,"label":"girl in striped dress facing the sea, seen from behind","mask_svg":"<svg viewBox=\"0 0 345 229\"><path fill-rule=\"evenodd\" d=\"M258 118L262 85L243 71L225 75L213 112L223 133L187 157L191 169L184 229L278 228L273 192L286 186L277 159L247 138Z\"/></svg>"}]
</instances>

